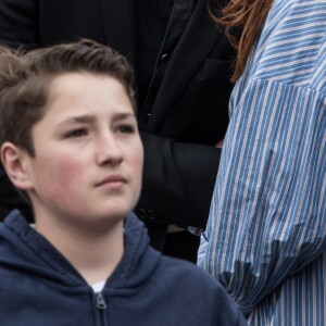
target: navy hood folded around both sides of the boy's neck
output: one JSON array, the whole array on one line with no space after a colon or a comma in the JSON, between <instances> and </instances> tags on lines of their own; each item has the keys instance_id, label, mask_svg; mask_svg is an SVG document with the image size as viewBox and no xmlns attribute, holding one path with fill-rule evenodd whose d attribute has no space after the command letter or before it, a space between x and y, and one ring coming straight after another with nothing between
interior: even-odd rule
<instances>
[{"instance_id":1,"label":"navy hood folded around both sides of the boy's neck","mask_svg":"<svg viewBox=\"0 0 326 326\"><path fill-rule=\"evenodd\" d=\"M3 224L0 238L5 238L9 250L1 253L1 263L60 286L86 286L80 274L28 225L18 211L9 214ZM152 275L160 261L161 254L149 247L147 229L134 213L127 215L125 221L124 244L123 258L106 281L104 291L134 292Z\"/></svg>"}]
</instances>

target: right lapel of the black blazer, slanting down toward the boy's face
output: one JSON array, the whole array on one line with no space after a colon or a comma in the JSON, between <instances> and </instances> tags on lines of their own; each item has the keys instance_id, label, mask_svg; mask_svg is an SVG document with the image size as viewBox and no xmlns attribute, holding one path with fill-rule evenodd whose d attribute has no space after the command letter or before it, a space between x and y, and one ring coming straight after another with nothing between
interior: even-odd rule
<instances>
[{"instance_id":1,"label":"right lapel of the black blazer, slanting down toward the boy's face","mask_svg":"<svg viewBox=\"0 0 326 326\"><path fill-rule=\"evenodd\" d=\"M222 37L222 32L208 15L208 1L199 0L166 68L148 125L149 131L158 129L168 108L172 108L205 55Z\"/></svg>"}]
</instances>

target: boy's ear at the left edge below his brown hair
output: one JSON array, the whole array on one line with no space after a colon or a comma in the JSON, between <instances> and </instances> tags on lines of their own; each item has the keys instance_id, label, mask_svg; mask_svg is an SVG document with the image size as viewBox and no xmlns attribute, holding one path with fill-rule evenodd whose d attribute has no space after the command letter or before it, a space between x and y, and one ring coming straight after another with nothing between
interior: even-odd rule
<instances>
[{"instance_id":1,"label":"boy's ear at the left edge below his brown hair","mask_svg":"<svg viewBox=\"0 0 326 326\"><path fill-rule=\"evenodd\" d=\"M1 161L4 170L13 183L21 190L33 188L28 162L30 156L12 142L4 142L1 147Z\"/></svg>"}]
</instances>

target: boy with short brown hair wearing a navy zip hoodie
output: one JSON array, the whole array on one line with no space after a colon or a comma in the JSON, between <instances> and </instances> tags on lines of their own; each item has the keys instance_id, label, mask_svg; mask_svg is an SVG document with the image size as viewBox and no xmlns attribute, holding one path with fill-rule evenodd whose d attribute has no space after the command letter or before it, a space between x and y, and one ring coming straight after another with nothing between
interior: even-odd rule
<instances>
[{"instance_id":1,"label":"boy with short brown hair wearing a navy zip hoodie","mask_svg":"<svg viewBox=\"0 0 326 326\"><path fill-rule=\"evenodd\" d=\"M0 325L244 325L129 213L143 153L126 60L83 40L3 49L0 72L1 160L35 218L0 226Z\"/></svg>"}]
</instances>

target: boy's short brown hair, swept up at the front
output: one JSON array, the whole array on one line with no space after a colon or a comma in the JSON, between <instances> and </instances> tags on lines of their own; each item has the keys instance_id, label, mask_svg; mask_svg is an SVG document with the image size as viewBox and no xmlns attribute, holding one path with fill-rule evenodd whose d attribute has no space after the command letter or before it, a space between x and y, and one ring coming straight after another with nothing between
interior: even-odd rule
<instances>
[{"instance_id":1,"label":"boy's short brown hair, swept up at the front","mask_svg":"<svg viewBox=\"0 0 326 326\"><path fill-rule=\"evenodd\" d=\"M27 53L0 47L0 147L10 141L35 156L32 128L46 113L51 83L78 72L116 78L136 110L131 66L106 46L83 39Z\"/></svg>"}]
</instances>

